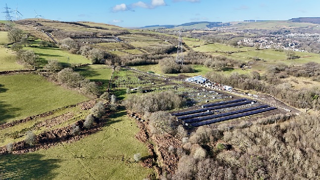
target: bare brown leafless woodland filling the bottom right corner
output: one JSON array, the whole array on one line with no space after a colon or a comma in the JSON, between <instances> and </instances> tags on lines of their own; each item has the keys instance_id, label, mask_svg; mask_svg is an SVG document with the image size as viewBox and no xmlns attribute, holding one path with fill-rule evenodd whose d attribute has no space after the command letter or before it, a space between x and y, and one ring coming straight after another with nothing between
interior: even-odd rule
<instances>
[{"instance_id":1,"label":"bare brown leafless woodland filling the bottom right corner","mask_svg":"<svg viewBox=\"0 0 320 180\"><path fill-rule=\"evenodd\" d=\"M270 118L269 118L270 119ZM287 119L287 118L284 118ZM316 180L320 118L232 130L201 126L183 142L178 170L167 180Z\"/></svg>"}]
</instances>

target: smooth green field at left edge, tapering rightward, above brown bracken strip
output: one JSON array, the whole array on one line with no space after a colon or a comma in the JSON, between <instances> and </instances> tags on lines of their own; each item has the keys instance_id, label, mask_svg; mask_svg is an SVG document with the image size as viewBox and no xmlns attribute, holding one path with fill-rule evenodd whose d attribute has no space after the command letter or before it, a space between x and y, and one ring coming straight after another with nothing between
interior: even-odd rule
<instances>
[{"instance_id":1,"label":"smooth green field at left edge, tapering rightward, above brown bracken strip","mask_svg":"<svg viewBox=\"0 0 320 180\"><path fill-rule=\"evenodd\" d=\"M0 123L23 119L89 98L32 74L0 76Z\"/></svg>"}]
</instances>

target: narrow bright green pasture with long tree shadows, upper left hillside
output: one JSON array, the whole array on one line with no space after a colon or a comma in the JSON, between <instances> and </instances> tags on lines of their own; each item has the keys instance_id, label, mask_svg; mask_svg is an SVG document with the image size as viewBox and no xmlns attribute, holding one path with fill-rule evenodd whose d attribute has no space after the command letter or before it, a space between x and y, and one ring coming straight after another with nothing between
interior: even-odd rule
<instances>
[{"instance_id":1,"label":"narrow bright green pasture with long tree shadows, upper left hillside","mask_svg":"<svg viewBox=\"0 0 320 180\"><path fill-rule=\"evenodd\" d=\"M58 60L63 64L68 64L68 58L70 64L91 64L91 60L81 56L74 55L59 48L47 48L47 47L26 47L25 50L33 50L40 58L40 66L44 66L47 60Z\"/></svg>"}]
</instances>

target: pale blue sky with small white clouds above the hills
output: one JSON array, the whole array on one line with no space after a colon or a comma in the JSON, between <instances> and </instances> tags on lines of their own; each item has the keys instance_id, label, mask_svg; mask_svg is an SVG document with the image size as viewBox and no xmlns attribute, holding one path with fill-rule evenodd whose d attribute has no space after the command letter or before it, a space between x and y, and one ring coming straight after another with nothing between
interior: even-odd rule
<instances>
[{"instance_id":1,"label":"pale blue sky with small white clouds above the hills","mask_svg":"<svg viewBox=\"0 0 320 180\"><path fill-rule=\"evenodd\" d=\"M194 21L288 20L320 17L320 0L0 0L16 19L42 15L59 21L92 21L121 27L179 25ZM1 13L0 20L5 20Z\"/></svg>"}]
</instances>

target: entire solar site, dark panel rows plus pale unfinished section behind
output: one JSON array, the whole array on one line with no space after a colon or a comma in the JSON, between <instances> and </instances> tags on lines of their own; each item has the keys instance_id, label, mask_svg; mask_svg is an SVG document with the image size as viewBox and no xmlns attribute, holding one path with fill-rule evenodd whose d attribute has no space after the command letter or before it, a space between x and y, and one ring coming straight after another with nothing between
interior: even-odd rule
<instances>
[{"instance_id":1,"label":"entire solar site, dark panel rows plus pale unfinished section behind","mask_svg":"<svg viewBox=\"0 0 320 180\"><path fill-rule=\"evenodd\" d=\"M184 109L171 115L190 127L248 118L277 109L256 100L233 97L228 92L206 88L196 83L176 83L125 69L115 74L113 83L116 89L140 87L142 93L172 91L185 98L185 108L189 111Z\"/></svg>"}]
</instances>

